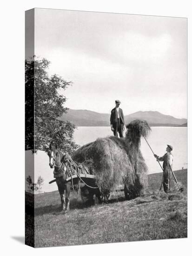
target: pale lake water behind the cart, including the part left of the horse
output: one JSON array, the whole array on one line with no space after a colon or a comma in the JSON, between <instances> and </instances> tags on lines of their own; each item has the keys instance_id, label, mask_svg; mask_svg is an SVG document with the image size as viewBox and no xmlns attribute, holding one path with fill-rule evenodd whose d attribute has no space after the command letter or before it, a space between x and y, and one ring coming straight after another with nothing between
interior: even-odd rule
<instances>
[{"instance_id":1,"label":"pale lake water behind the cart, including the part left of the horse","mask_svg":"<svg viewBox=\"0 0 192 256\"><path fill-rule=\"evenodd\" d=\"M112 135L110 127L79 127L74 132L74 141L82 146L88 142L95 141L99 137ZM152 127L147 138L155 154L162 156L166 153L166 145L173 146L173 170L187 168L187 128L186 127ZM141 140L141 152L148 166L149 174L161 172L158 162L154 158L149 146L144 139ZM42 190L45 192L57 190L56 183L48 184L53 180L53 169L49 167L49 158L44 151L38 150L32 155L30 150L26 151L26 176L33 174L34 181L38 176L44 178ZM33 175L32 175L33 176ZM27 186L26 186L27 189Z\"/></svg>"}]
</instances>

